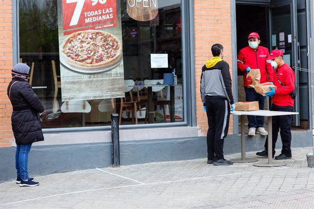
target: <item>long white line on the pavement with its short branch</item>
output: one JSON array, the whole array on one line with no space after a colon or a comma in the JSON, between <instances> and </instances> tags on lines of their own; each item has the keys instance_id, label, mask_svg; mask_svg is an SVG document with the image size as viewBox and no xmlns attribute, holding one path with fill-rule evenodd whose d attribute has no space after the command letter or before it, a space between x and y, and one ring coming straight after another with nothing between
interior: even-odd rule
<instances>
[{"instance_id":1,"label":"long white line on the pavement with its short branch","mask_svg":"<svg viewBox=\"0 0 314 209\"><path fill-rule=\"evenodd\" d=\"M225 174L225 175L219 175L219 176L205 176L205 177L197 177L197 178L191 178L191 179L183 179L183 180L174 180L174 181L167 181L167 182L156 182L156 183L140 183L140 184L133 184L133 185L125 185L125 186L114 186L114 187L108 187L108 188L99 188L99 189L89 189L89 190L83 190L83 191L76 191L76 192L67 192L67 193L63 193L63 194L55 194L55 195L49 195L46 197L38 197L38 198L33 198L33 199L28 199L28 200L21 200L21 201L16 201L16 202L11 202L11 203L4 203L4 204L0 204L0 206L5 206L5 205L10 205L10 204L14 204L14 203L23 203L23 202L28 202L28 201L32 201L32 200L40 200L40 199L44 199L44 198L50 198L50 197L57 197L57 196L62 196L62 195L68 195L68 194L78 194L78 193L82 193L82 192L89 192L89 191L99 191L99 190L105 190L105 189L116 189L116 188L124 188L124 187L131 187L131 186L143 186L143 185L152 185L152 184L161 184L161 183L173 183L173 182L183 182L183 181L190 181L190 180L197 180L197 179L206 179L206 178L216 178L216 177L223 177L223 176L232 176L232 175L239 175L239 174L247 174L247 173L254 173L254 172L261 172L261 171L270 171L270 170L278 170L278 169L282 169L285 167L274 167L272 169L265 169L265 170L260 170L260 171L249 171L249 172L245 172L245 173L235 173L235 174ZM97 170L101 170L99 168L96 168ZM101 170L103 171L103 170ZM107 171L103 171L106 173L110 173ZM110 173L112 174L112 173ZM117 174L113 174L122 178L126 178ZM126 178L129 179L129 178ZM132 180L132 179L129 179ZM135 181L135 180L132 180ZM137 182L137 181L135 181Z\"/></svg>"}]
</instances>

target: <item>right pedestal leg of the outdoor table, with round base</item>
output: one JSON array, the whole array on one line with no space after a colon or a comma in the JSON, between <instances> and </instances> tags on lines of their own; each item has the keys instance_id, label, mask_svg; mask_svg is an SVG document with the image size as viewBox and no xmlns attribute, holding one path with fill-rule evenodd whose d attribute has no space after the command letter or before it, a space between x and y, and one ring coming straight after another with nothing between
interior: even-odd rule
<instances>
[{"instance_id":1,"label":"right pedestal leg of the outdoor table, with round base","mask_svg":"<svg viewBox=\"0 0 314 209\"><path fill-rule=\"evenodd\" d=\"M278 167L278 166L284 166L287 165L288 163L284 162L284 161L280 161L280 160L276 160L275 162L273 161L273 140L272 140L272 136L273 136L273 131L272 131L272 117L268 116L268 139L267 139L267 143L268 143L268 162L256 162L253 163L254 166L258 166L258 167Z\"/></svg>"}]
</instances>

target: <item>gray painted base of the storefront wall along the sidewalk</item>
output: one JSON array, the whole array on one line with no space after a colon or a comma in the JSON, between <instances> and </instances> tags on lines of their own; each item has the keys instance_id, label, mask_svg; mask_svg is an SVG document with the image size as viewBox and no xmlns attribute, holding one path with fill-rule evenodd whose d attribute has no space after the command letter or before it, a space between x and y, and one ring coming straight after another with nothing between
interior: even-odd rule
<instances>
[{"instance_id":1,"label":"gray painted base of the storefront wall along the sidewalk","mask_svg":"<svg viewBox=\"0 0 314 209\"><path fill-rule=\"evenodd\" d=\"M261 151L265 136L246 136L246 152ZM278 140L276 149L282 146ZM291 147L312 146L312 132L293 132ZM240 135L225 139L224 154L240 153ZM121 165L207 157L206 137L124 141L120 143ZM240 154L239 154L240 155ZM15 147L0 148L0 183L16 178ZM111 143L34 146L28 160L30 177L69 172L111 164Z\"/></svg>"}]
</instances>

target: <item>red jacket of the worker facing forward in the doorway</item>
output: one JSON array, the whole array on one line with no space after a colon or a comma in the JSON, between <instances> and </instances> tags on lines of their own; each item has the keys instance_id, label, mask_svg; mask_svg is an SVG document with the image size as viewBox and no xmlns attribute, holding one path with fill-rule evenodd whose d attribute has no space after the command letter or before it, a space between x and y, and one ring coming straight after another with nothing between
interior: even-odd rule
<instances>
[{"instance_id":1,"label":"red jacket of the worker facing forward in the doorway","mask_svg":"<svg viewBox=\"0 0 314 209\"><path fill-rule=\"evenodd\" d=\"M244 72L244 86L247 86L246 79L246 68L260 69L261 71L261 83L267 81L273 81L273 68L270 63L266 62L269 56L268 49L265 47L258 46L256 52L249 46L244 47L240 50L237 56L237 68ZM267 70L266 70L267 69ZM267 73L269 79L267 78Z\"/></svg>"}]
</instances>

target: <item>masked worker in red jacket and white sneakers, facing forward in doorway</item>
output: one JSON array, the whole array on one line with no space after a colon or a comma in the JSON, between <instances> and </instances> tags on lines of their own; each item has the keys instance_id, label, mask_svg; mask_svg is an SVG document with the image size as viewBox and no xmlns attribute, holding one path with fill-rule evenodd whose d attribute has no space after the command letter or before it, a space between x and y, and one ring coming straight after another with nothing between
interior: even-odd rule
<instances>
[{"instance_id":1,"label":"masked worker in red jacket and white sneakers, facing forward in doorway","mask_svg":"<svg viewBox=\"0 0 314 209\"><path fill-rule=\"evenodd\" d=\"M257 93L254 88L248 87L246 73L251 69L260 69L261 83L273 81L273 68L270 63L266 62L269 56L268 49L259 46L261 43L260 36L256 32L251 32L248 36L249 46L240 50L237 60L237 68L244 72L244 90L246 102L258 101L260 109L264 109L265 97ZM267 74L269 79L267 78ZM249 136L254 136L255 133L266 136L268 132L264 129L264 116L247 116L249 120Z\"/></svg>"}]
</instances>

